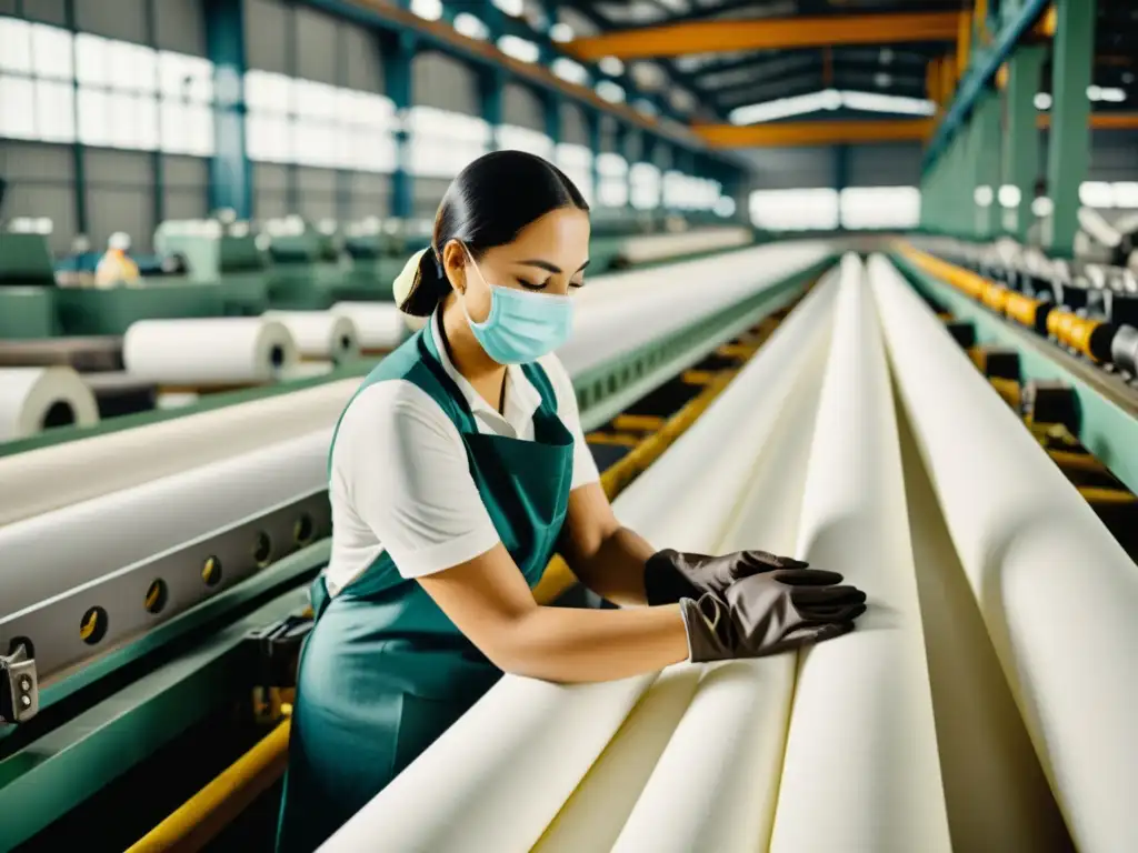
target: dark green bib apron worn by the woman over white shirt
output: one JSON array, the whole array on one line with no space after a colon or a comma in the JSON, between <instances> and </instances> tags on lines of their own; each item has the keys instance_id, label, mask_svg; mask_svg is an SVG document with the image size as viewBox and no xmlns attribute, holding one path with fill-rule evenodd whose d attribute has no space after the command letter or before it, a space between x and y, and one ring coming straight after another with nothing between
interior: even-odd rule
<instances>
[{"instance_id":1,"label":"dark green bib apron worn by the woman over white shirt","mask_svg":"<svg viewBox=\"0 0 1138 853\"><path fill-rule=\"evenodd\" d=\"M478 432L424 331L385 358L360 390L403 379L443 407L462 436L502 544L533 588L566 516L574 439L558 419L545 372L536 364L522 370L542 397L534 441ZM335 597L322 577L313 586L316 623L297 674L279 853L315 850L502 674L386 553ZM429 820L430 804L423 809Z\"/></svg>"}]
</instances>

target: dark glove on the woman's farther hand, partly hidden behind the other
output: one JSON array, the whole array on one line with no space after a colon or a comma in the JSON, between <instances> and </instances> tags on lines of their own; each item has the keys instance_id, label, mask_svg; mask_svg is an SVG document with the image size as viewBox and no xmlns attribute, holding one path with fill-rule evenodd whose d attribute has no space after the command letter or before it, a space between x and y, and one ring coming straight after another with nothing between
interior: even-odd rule
<instances>
[{"instance_id":1,"label":"dark glove on the woman's farther hand, partly hidden behind the other","mask_svg":"<svg viewBox=\"0 0 1138 853\"><path fill-rule=\"evenodd\" d=\"M704 593L721 598L727 587L742 578L776 569L808 568L801 560L778 557L765 550L737 550L710 557L667 549L653 554L644 564L644 593L651 606L675 604L681 598L699 599Z\"/></svg>"}]
</instances>

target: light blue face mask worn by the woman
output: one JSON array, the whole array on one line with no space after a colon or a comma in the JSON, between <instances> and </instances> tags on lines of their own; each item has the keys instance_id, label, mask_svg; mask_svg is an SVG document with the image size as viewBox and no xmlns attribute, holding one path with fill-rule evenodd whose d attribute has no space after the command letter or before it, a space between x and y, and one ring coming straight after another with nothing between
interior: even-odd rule
<instances>
[{"instance_id":1,"label":"light blue face mask worn by the woman","mask_svg":"<svg viewBox=\"0 0 1138 853\"><path fill-rule=\"evenodd\" d=\"M572 299L556 293L535 293L490 284L467 252L478 278L490 291L490 313L476 323L462 310L486 355L498 364L529 364L552 353L572 332Z\"/></svg>"}]
</instances>

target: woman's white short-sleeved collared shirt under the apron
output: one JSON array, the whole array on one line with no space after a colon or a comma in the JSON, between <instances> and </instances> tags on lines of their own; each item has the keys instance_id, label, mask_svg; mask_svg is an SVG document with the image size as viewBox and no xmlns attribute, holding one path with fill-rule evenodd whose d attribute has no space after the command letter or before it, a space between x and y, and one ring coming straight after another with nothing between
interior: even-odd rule
<instances>
[{"instance_id":1,"label":"woman's white short-sleeved collared shirt under the apron","mask_svg":"<svg viewBox=\"0 0 1138 853\"><path fill-rule=\"evenodd\" d=\"M423 332L434 337L443 370L454 380L478 431L534 440L541 392L519 366L506 368L504 414L492 408L438 346L438 315ZM556 397L558 416L574 437L572 489L600 474L585 444L569 374L555 355L538 364ZM498 535L470 475L459 430L413 382L385 380L356 396L332 448L329 497L332 553L325 571L336 595L385 550L405 578L450 569L485 554Z\"/></svg>"}]
</instances>

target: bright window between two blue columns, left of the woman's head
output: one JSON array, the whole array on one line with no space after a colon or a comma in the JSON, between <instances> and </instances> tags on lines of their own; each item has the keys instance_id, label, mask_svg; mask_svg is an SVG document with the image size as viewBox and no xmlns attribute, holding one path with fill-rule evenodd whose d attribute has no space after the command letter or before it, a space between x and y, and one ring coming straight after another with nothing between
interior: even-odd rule
<instances>
[{"instance_id":1,"label":"bright window between two blue columns, left of the woman's head","mask_svg":"<svg viewBox=\"0 0 1138 853\"><path fill-rule=\"evenodd\" d=\"M245 75L246 149L263 163L394 172L389 98L283 74Z\"/></svg>"}]
</instances>

